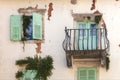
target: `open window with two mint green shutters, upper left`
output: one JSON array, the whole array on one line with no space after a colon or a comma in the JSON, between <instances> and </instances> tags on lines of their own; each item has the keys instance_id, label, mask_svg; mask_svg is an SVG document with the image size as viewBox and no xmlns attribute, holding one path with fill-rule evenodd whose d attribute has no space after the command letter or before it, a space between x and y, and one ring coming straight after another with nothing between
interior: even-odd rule
<instances>
[{"instance_id":1,"label":"open window with two mint green shutters, upper left","mask_svg":"<svg viewBox=\"0 0 120 80\"><path fill-rule=\"evenodd\" d=\"M33 13L31 16L12 15L10 17L10 39L43 40L42 14Z\"/></svg>"}]
</instances>

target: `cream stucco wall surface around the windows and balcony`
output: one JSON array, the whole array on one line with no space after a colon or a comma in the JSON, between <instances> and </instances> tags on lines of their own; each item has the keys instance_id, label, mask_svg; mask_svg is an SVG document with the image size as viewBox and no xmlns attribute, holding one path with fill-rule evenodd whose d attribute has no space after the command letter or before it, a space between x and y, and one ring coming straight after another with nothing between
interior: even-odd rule
<instances>
[{"instance_id":1,"label":"cream stucco wall surface around the windows and balcony","mask_svg":"<svg viewBox=\"0 0 120 80\"><path fill-rule=\"evenodd\" d=\"M71 10L77 13L92 13L90 10L92 0L78 0L76 5L70 0L0 0L0 80L16 80L18 70L15 65L17 59L36 54L35 44L23 44L10 41L10 15L18 14L19 8L36 6L48 9L48 4L53 3L51 20L47 20L45 13L45 43L42 44L41 56L51 55L54 59L53 75L50 80L75 80L74 69L66 66L65 52L62 41L65 37L64 28L72 28L74 23ZM103 18L108 29L110 40L110 69L99 69L99 80L120 80L120 1L97 0L96 9L103 13Z\"/></svg>"}]
</instances>

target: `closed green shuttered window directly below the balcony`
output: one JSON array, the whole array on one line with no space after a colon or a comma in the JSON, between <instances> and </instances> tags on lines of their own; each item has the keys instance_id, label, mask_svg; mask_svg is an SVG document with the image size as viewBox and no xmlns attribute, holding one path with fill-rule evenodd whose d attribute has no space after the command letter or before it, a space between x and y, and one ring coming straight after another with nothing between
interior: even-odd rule
<instances>
[{"instance_id":1,"label":"closed green shuttered window directly below the balcony","mask_svg":"<svg viewBox=\"0 0 120 80\"><path fill-rule=\"evenodd\" d=\"M78 80L97 80L96 68L79 68Z\"/></svg>"}]
</instances>

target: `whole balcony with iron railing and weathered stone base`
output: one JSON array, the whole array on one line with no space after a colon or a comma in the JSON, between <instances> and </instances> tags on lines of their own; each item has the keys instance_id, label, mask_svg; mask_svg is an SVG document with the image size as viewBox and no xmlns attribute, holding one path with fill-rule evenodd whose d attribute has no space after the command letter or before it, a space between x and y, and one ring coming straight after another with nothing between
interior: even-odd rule
<instances>
[{"instance_id":1,"label":"whole balcony with iron railing and weathered stone base","mask_svg":"<svg viewBox=\"0 0 120 80\"><path fill-rule=\"evenodd\" d=\"M106 28L67 29L63 49L66 52L67 66L72 67L74 59L104 60L109 49Z\"/></svg>"}]
</instances>

